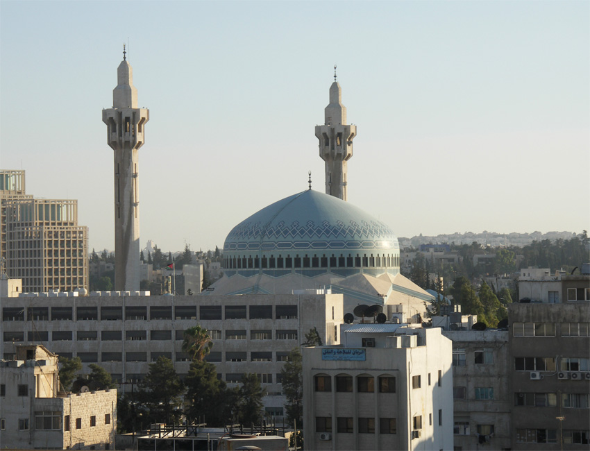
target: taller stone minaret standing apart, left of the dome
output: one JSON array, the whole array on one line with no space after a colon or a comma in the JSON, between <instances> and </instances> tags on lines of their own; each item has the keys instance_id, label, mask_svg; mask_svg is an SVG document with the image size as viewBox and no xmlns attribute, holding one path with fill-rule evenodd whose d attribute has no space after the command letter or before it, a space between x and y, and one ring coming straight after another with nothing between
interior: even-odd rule
<instances>
[{"instance_id":1,"label":"taller stone minaret standing apart, left of the dome","mask_svg":"<svg viewBox=\"0 0 590 451\"><path fill-rule=\"evenodd\" d=\"M107 143L115 154L115 290L140 289L140 193L137 151L144 144L149 110L137 108L133 69L126 60L117 68L112 108L103 110Z\"/></svg>"}]
</instances>

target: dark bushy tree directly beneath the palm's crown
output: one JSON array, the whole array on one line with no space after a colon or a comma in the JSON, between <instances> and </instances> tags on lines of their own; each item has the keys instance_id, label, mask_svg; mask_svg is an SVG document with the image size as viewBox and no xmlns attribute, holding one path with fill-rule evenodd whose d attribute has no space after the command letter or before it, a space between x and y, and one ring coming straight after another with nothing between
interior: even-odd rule
<instances>
[{"instance_id":1,"label":"dark bushy tree directly beneath the palm's crown","mask_svg":"<svg viewBox=\"0 0 590 451\"><path fill-rule=\"evenodd\" d=\"M193 360L185 386L187 423L207 423L213 427L233 423L232 416L238 405L239 389L228 389L223 380L217 379L214 364ZM212 409L212 406L215 408Z\"/></svg>"}]
</instances>

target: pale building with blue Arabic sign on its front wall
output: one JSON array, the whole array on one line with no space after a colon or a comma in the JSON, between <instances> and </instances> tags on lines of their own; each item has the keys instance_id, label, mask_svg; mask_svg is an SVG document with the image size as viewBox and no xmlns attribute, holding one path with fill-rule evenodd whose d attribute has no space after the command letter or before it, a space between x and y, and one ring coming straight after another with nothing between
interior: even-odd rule
<instances>
[{"instance_id":1,"label":"pale building with blue Arabic sign on its front wall","mask_svg":"<svg viewBox=\"0 0 590 451\"><path fill-rule=\"evenodd\" d=\"M342 346L303 348L308 450L453 448L451 343L440 329L342 326Z\"/></svg>"}]
</instances>

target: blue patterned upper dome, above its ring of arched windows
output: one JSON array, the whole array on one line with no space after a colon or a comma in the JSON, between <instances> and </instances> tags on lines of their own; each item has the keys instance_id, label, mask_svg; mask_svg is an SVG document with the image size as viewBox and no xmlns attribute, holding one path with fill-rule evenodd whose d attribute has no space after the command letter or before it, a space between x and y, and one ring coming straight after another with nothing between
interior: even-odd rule
<instances>
[{"instance_id":1,"label":"blue patterned upper dome, above its ring of arched windows","mask_svg":"<svg viewBox=\"0 0 590 451\"><path fill-rule=\"evenodd\" d=\"M226 238L224 253L398 248L397 237L382 221L351 203L308 189L237 224Z\"/></svg>"}]
</instances>

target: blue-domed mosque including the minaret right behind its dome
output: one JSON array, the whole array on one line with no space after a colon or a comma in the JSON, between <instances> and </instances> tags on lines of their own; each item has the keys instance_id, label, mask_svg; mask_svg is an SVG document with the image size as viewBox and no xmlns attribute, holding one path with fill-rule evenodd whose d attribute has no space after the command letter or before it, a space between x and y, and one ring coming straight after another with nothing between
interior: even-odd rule
<instances>
[{"instance_id":1,"label":"blue-domed mosque including the minaret right behind its dome","mask_svg":"<svg viewBox=\"0 0 590 451\"><path fill-rule=\"evenodd\" d=\"M400 273L398 239L347 198L347 164L356 126L346 124L337 82L325 123L316 126L326 162L326 194L312 190L281 199L237 224L224 243L224 276L205 294L342 293L344 312L357 305L401 305L400 320L425 314L424 291ZM389 309L391 311L391 309Z\"/></svg>"}]
</instances>

